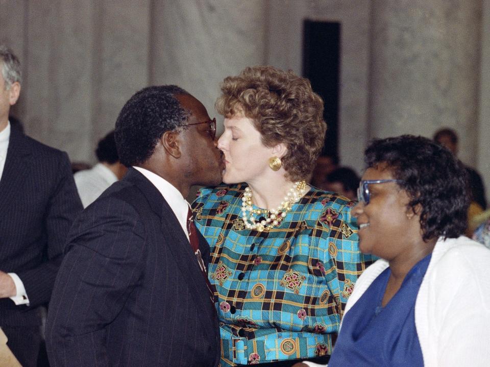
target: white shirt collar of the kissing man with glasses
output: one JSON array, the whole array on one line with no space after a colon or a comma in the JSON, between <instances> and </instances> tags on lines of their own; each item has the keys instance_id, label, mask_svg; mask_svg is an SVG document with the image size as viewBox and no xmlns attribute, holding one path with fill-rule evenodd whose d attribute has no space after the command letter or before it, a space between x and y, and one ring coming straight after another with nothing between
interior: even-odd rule
<instances>
[{"instance_id":1,"label":"white shirt collar of the kissing man with glasses","mask_svg":"<svg viewBox=\"0 0 490 367\"><path fill-rule=\"evenodd\" d=\"M187 200L184 199L180 191L177 190L170 182L147 169L135 166L133 166L133 168L141 172L150 180L150 182L153 183L157 190L160 191L163 198L177 217L187 239L189 239L189 233L187 233L187 213L190 205Z\"/></svg>"}]
</instances>

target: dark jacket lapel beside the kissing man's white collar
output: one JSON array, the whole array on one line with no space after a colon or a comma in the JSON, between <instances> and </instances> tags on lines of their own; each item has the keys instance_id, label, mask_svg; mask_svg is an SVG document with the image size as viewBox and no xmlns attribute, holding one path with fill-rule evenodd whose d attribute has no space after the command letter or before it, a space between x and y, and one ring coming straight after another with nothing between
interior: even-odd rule
<instances>
[{"instance_id":1,"label":"dark jacket lapel beside the kissing man's white collar","mask_svg":"<svg viewBox=\"0 0 490 367\"><path fill-rule=\"evenodd\" d=\"M152 210L161 218L162 234L167 239L165 242L174 255L176 263L180 265L181 278L188 285L195 299L195 306L203 314L211 312L210 318L201 318L201 321L213 320L215 309L209 299L201 268L174 212L153 183L134 168L130 168L124 179L135 183L148 200Z\"/></svg>"}]
</instances>

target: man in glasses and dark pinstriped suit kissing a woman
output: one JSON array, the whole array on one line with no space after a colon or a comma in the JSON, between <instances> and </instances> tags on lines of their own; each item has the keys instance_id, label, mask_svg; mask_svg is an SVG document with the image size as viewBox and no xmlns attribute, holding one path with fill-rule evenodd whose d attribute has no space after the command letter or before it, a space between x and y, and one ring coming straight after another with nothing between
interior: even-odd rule
<instances>
[{"instance_id":1,"label":"man in glasses and dark pinstriped suit kissing a woman","mask_svg":"<svg viewBox=\"0 0 490 367\"><path fill-rule=\"evenodd\" d=\"M122 108L115 139L131 168L71 228L46 324L52 367L218 364L209 247L184 199L221 181L215 128L176 86Z\"/></svg>"}]
</instances>

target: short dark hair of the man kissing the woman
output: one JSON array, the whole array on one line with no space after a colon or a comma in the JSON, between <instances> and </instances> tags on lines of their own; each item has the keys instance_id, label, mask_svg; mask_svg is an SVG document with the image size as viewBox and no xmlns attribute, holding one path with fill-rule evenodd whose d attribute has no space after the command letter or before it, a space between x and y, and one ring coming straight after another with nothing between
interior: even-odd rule
<instances>
[{"instance_id":1,"label":"short dark hair of the man kissing the woman","mask_svg":"<svg viewBox=\"0 0 490 367\"><path fill-rule=\"evenodd\" d=\"M140 165L150 158L158 139L187 120L189 111L176 95L189 95L175 85L146 87L124 105L116 121L115 140L125 166Z\"/></svg>"}]
</instances>

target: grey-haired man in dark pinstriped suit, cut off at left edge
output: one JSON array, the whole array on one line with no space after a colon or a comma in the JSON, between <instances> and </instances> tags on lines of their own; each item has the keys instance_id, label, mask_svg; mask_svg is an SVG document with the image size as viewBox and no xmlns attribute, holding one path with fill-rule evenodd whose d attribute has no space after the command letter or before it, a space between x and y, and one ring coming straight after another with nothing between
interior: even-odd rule
<instances>
[{"instance_id":1,"label":"grey-haired man in dark pinstriped suit, cut off at left edge","mask_svg":"<svg viewBox=\"0 0 490 367\"><path fill-rule=\"evenodd\" d=\"M50 300L66 235L82 204L66 153L10 124L20 64L2 45L0 69L0 328L29 367L36 365L41 343L40 306Z\"/></svg>"}]
</instances>

